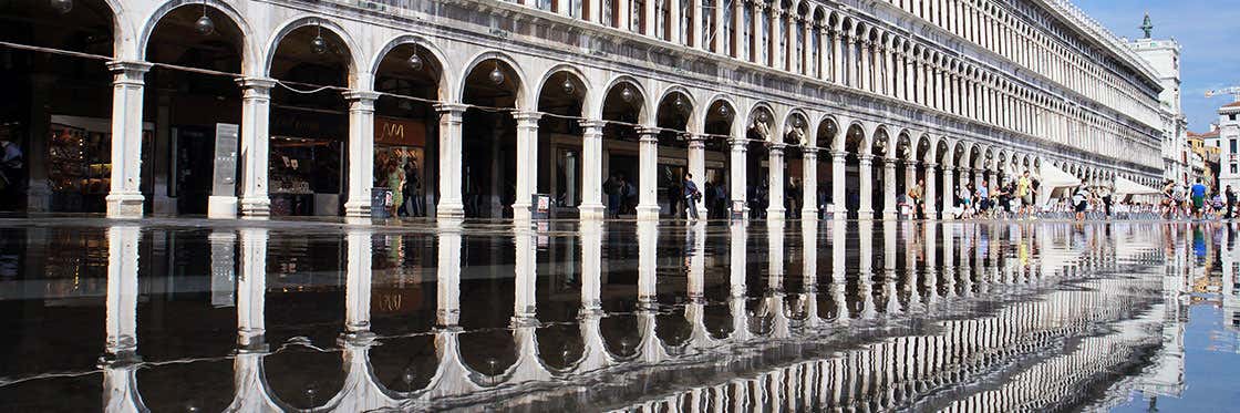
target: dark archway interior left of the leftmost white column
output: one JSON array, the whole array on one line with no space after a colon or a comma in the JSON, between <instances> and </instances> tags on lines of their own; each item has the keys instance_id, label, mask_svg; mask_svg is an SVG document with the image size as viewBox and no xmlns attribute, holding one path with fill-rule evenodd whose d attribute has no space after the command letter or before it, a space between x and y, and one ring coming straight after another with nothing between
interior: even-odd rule
<instances>
[{"instance_id":1,"label":"dark archway interior left of the leftmost white column","mask_svg":"<svg viewBox=\"0 0 1240 413\"><path fill-rule=\"evenodd\" d=\"M0 40L113 55L112 10L74 1L61 14L47 1L0 2ZM110 165L112 74L104 60L0 48L0 140L17 144L24 165L0 191L0 211L103 212Z\"/></svg>"}]
</instances>

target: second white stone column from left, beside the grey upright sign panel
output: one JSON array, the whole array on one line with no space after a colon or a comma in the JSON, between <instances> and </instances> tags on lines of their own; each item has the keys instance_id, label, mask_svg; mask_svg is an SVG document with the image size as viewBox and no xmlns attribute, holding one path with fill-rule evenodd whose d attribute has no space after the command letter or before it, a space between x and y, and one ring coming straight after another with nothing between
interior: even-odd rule
<instances>
[{"instance_id":1,"label":"second white stone column from left, beside the grey upright sign panel","mask_svg":"<svg viewBox=\"0 0 1240 413\"><path fill-rule=\"evenodd\" d=\"M265 217L272 206L268 197L270 136L268 117L272 110L272 87L275 81L243 78L241 102L241 213L244 217Z\"/></svg>"}]
</instances>

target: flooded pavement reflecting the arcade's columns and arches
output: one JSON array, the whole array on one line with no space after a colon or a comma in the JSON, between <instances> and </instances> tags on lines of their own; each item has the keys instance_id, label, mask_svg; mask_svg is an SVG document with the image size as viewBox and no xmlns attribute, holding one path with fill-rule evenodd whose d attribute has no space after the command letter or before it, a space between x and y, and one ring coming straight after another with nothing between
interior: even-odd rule
<instances>
[{"instance_id":1,"label":"flooded pavement reflecting the arcade's columns and arches","mask_svg":"<svg viewBox=\"0 0 1240 413\"><path fill-rule=\"evenodd\" d=\"M1225 411L1236 231L4 218L0 411Z\"/></svg>"}]
</instances>

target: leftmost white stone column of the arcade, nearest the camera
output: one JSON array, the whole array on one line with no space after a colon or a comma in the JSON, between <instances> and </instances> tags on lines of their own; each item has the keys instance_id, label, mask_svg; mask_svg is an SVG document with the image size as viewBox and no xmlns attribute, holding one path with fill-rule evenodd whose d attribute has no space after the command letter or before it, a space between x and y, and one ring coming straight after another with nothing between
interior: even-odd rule
<instances>
[{"instance_id":1,"label":"leftmost white stone column of the arcade, nearest the camera","mask_svg":"<svg viewBox=\"0 0 1240 413\"><path fill-rule=\"evenodd\" d=\"M151 63L112 61L112 189L109 218L143 217L143 87Z\"/></svg>"}]
</instances>

